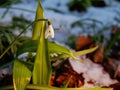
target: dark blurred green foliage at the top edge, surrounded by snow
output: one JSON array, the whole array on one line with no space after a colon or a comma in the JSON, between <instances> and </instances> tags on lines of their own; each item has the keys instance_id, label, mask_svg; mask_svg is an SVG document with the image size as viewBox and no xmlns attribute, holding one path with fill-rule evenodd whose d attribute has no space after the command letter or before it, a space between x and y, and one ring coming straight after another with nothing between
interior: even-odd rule
<instances>
[{"instance_id":1,"label":"dark blurred green foliage at the top edge, surrounded by snow","mask_svg":"<svg viewBox=\"0 0 120 90\"><path fill-rule=\"evenodd\" d=\"M104 0L71 0L67 6L70 11L82 12L87 11L87 8L90 6L105 7L106 3Z\"/></svg>"}]
</instances>

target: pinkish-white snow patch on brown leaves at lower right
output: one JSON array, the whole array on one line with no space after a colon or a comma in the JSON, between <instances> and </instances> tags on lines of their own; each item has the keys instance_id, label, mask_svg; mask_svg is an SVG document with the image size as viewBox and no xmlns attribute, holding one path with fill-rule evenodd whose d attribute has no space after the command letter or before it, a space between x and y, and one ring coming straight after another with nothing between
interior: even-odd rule
<instances>
[{"instance_id":1,"label":"pinkish-white snow patch on brown leaves at lower right","mask_svg":"<svg viewBox=\"0 0 120 90\"><path fill-rule=\"evenodd\" d=\"M85 79L83 87L88 88L96 86L109 86L118 82L115 79L111 79L109 74L104 71L101 65L93 63L85 56L80 57L80 59L84 61L76 61L70 58L69 62L73 67L73 70L79 74L83 74L83 77ZM90 81L92 81L94 84L89 83Z\"/></svg>"}]
</instances>

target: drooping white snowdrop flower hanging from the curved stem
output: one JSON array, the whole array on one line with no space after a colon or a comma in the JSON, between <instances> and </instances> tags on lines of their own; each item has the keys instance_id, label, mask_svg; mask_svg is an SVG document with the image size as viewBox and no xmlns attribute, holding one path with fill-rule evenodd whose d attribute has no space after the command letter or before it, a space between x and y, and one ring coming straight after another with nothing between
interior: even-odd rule
<instances>
[{"instance_id":1,"label":"drooping white snowdrop flower hanging from the curved stem","mask_svg":"<svg viewBox=\"0 0 120 90\"><path fill-rule=\"evenodd\" d=\"M54 38L54 29L52 27L52 24L50 23L50 21L48 21L48 28L45 32L45 39L48 38L48 36L51 36L51 38Z\"/></svg>"}]
</instances>

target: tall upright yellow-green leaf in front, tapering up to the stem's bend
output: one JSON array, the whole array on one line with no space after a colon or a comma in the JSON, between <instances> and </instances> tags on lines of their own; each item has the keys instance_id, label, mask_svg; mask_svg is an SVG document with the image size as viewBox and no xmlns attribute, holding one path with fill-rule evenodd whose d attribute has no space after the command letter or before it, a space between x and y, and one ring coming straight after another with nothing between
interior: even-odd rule
<instances>
[{"instance_id":1,"label":"tall upright yellow-green leaf in front, tapering up to the stem's bend","mask_svg":"<svg viewBox=\"0 0 120 90\"><path fill-rule=\"evenodd\" d=\"M43 26L44 26L43 22ZM48 56L47 42L44 39L44 28L42 29L38 50L33 70L33 83L40 85L49 85L51 75L51 66Z\"/></svg>"}]
</instances>

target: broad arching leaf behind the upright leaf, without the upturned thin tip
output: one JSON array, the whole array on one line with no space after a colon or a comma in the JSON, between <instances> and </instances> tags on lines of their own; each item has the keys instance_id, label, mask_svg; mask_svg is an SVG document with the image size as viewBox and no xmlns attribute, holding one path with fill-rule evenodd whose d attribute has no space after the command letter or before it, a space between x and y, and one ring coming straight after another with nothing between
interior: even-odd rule
<instances>
[{"instance_id":1,"label":"broad arching leaf behind the upright leaf, without the upturned thin tip","mask_svg":"<svg viewBox=\"0 0 120 90\"><path fill-rule=\"evenodd\" d=\"M20 54L23 54L25 52L36 52L37 50L37 45L38 45L38 40L31 40L28 41L27 43L24 43L20 48L18 48L16 56L19 56ZM64 54L63 57L73 57L72 52L58 44L55 44L53 42L48 42L48 51L49 53L57 53L57 54Z\"/></svg>"}]
</instances>

